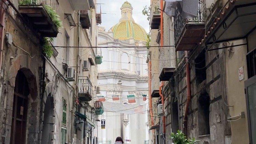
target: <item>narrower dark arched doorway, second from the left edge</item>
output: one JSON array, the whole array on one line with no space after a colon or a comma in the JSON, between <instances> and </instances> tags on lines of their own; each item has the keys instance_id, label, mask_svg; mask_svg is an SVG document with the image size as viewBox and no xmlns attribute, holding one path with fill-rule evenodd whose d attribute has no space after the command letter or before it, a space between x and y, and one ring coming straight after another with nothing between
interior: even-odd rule
<instances>
[{"instance_id":1,"label":"narrower dark arched doorway, second from the left edge","mask_svg":"<svg viewBox=\"0 0 256 144\"><path fill-rule=\"evenodd\" d=\"M54 132L54 103L51 93L47 96L44 105L44 119L43 119L43 130L42 130L42 144L50 144L53 142L52 132Z\"/></svg>"}]
</instances>

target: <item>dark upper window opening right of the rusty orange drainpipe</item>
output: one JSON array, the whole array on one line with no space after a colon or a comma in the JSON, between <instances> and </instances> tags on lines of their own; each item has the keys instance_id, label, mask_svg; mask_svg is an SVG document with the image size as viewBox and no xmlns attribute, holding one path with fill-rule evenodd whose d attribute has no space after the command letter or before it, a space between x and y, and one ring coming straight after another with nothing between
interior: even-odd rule
<instances>
[{"instance_id":1,"label":"dark upper window opening right of the rusty orange drainpipe","mask_svg":"<svg viewBox=\"0 0 256 144\"><path fill-rule=\"evenodd\" d=\"M206 80L206 67L205 67L205 50L203 50L195 59L196 67L196 82L201 84Z\"/></svg>"}]
</instances>

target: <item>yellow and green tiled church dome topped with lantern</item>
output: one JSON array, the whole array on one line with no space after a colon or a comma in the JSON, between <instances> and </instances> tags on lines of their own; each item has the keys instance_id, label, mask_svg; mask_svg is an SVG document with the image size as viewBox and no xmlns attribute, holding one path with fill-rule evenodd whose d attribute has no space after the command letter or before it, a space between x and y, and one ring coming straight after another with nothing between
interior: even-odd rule
<instances>
[{"instance_id":1,"label":"yellow and green tiled church dome topped with lantern","mask_svg":"<svg viewBox=\"0 0 256 144\"><path fill-rule=\"evenodd\" d=\"M122 17L119 23L114 25L110 30L113 32L113 38L126 40L133 38L138 41L147 41L147 33L144 28L134 22L132 18L132 6L128 1L122 5Z\"/></svg>"}]
</instances>

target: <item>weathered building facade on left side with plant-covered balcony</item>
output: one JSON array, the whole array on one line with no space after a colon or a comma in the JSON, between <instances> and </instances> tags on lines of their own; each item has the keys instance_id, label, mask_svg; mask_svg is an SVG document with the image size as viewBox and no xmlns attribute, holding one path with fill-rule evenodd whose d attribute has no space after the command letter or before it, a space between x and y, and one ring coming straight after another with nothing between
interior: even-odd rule
<instances>
[{"instance_id":1,"label":"weathered building facade on left side with plant-covered balcony","mask_svg":"<svg viewBox=\"0 0 256 144\"><path fill-rule=\"evenodd\" d=\"M97 142L97 8L91 0L1 2L0 143Z\"/></svg>"}]
</instances>

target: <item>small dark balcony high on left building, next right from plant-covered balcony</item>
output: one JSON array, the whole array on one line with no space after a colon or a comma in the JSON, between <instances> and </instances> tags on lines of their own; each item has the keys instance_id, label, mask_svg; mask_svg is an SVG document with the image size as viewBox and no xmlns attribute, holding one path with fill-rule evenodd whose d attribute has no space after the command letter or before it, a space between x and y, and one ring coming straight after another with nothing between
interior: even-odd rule
<instances>
[{"instance_id":1,"label":"small dark balcony high on left building, next right from plant-covered balcony","mask_svg":"<svg viewBox=\"0 0 256 144\"><path fill-rule=\"evenodd\" d=\"M83 29L89 29L91 27L91 11L80 11L80 23Z\"/></svg>"}]
</instances>

